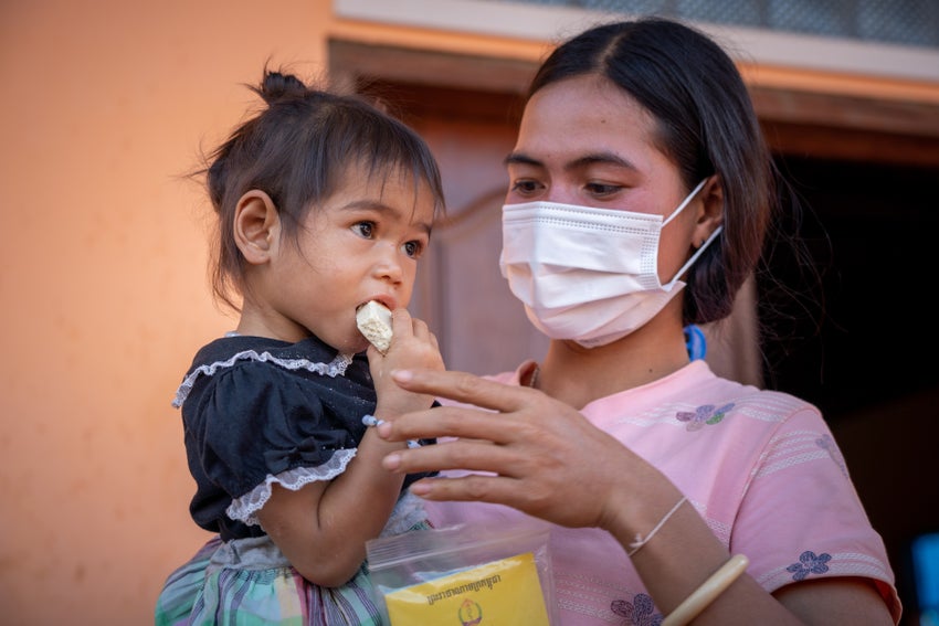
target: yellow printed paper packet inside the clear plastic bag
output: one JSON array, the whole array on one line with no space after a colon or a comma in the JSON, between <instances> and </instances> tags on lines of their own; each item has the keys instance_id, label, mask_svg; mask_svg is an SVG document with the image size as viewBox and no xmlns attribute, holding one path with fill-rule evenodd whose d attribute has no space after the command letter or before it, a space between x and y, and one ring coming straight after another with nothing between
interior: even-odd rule
<instances>
[{"instance_id":1,"label":"yellow printed paper packet inside the clear plastic bag","mask_svg":"<svg viewBox=\"0 0 939 626\"><path fill-rule=\"evenodd\" d=\"M384 602L391 626L550 624L531 552L391 592Z\"/></svg>"}]
</instances>

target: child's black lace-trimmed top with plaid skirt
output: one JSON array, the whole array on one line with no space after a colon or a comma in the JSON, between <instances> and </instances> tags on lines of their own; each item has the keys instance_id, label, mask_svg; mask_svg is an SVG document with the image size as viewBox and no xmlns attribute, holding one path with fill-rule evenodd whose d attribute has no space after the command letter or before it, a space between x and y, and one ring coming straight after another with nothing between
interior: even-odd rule
<instances>
[{"instance_id":1,"label":"child's black lace-trimmed top with plaid skirt","mask_svg":"<svg viewBox=\"0 0 939 626\"><path fill-rule=\"evenodd\" d=\"M303 623L378 624L365 563L342 587L314 585L256 518L274 482L299 489L330 480L355 457L362 416L376 406L365 353L340 354L317 338L289 343L232 333L196 354L173 405L182 409L197 486L192 519L219 537L168 577L156 623L244 617L245 611L276 623L289 620L289 605ZM404 487L424 476L408 475ZM402 488L382 534L429 526L420 499Z\"/></svg>"}]
</instances>

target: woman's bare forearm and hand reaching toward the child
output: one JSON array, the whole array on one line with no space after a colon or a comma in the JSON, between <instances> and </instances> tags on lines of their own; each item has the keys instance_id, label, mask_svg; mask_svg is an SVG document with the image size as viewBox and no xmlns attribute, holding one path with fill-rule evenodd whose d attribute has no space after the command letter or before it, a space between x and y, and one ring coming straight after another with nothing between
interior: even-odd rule
<instances>
[{"instance_id":1,"label":"woman's bare forearm and hand reaching toward the child","mask_svg":"<svg viewBox=\"0 0 939 626\"><path fill-rule=\"evenodd\" d=\"M626 551L682 498L656 468L578 411L541 392L461 372L399 371L394 379L412 392L486 410L440 406L379 426L379 434L390 442L456 437L392 452L384 459L391 470L495 474L424 479L411 486L419 496L507 505L566 527L598 527ZM634 553L632 562L667 615L730 556L694 507L685 505ZM790 584L777 598L743 574L695 624L893 624L873 584L856 579L821 582Z\"/></svg>"}]
</instances>

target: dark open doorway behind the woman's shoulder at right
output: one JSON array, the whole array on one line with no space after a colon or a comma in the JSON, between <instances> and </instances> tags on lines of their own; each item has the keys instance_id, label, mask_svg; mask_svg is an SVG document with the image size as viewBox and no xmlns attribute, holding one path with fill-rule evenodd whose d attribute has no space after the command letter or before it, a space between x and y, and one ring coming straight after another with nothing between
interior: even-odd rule
<instances>
[{"instance_id":1,"label":"dark open doorway behind the woman's shoulder at right","mask_svg":"<svg viewBox=\"0 0 939 626\"><path fill-rule=\"evenodd\" d=\"M880 532L914 626L910 542L939 530L939 361L932 356L939 168L780 157L811 214L801 224L821 285L783 293L763 347L766 386L816 404ZM773 272L804 284L783 253Z\"/></svg>"}]
</instances>

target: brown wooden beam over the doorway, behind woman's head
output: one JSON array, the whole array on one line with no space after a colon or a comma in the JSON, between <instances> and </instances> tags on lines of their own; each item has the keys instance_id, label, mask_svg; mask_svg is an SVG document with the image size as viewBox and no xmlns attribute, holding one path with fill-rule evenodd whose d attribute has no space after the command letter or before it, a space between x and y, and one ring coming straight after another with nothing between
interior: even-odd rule
<instances>
[{"instance_id":1,"label":"brown wooden beam over the doorway, behind woman's head","mask_svg":"<svg viewBox=\"0 0 939 626\"><path fill-rule=\"evenodd\" d=\"M488 110L505 116L506 103L524 93L537 63L402 45L328 40L329 75L357 88L363 82L408 85L414 97L402 112L428 108L460 114L461 92L490 94ZM743 67L745 78L752 68ZM812 81L790 86L749 82L751 97L770 148L779 155L822 159L939 166L939 102L904 100L893 95L853 95L813 89Z\"/></svg>"}]
</instances>

